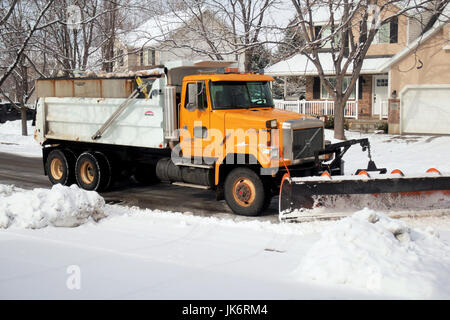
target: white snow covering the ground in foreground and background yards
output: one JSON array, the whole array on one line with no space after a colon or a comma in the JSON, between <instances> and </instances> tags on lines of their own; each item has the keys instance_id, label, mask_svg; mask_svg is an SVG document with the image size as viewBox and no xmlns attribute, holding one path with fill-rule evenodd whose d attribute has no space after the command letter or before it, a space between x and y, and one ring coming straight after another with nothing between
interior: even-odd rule
<instances>
[{"instance_id":1,"label":"white snow covering the ground in foreground and background yards","mask_svg":"<svg viewBox=\"0 0 450 320\"><path fill-rule=\"evenodd\" d=\"M31 149L32 136L1 126L0 142L17 148L0 151ZM442 161L450 137L347 134L365 136L380 167L450 171ZM350 171L366 164L353 149ZM450 298L446 216L398 220L363 209L340 221L236 222L105 205L75 186L0 181L0 226L3 299Z\"/></svg>"}]
</instances>

